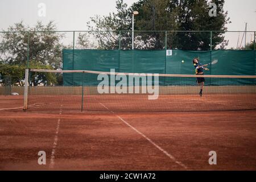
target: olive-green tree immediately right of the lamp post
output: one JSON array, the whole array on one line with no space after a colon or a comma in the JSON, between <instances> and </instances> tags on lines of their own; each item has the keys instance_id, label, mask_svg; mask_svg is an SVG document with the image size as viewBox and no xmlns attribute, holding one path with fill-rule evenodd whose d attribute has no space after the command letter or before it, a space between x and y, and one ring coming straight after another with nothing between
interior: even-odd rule
<instances>
[{"instance_id":1,"label":"olive-green tree immediately right of the lamp post","mask_svg":"<svg viewBox=\"0 0 256 182\"><path fill-rule=\"evenodd\" d=\"M175 22L176 11L168 12L168 6L168 0L141 0L134 3L131 9L139 11L139 15L136 16L135 30L150 30L148 32L135 32L135 48L164 48L166 34L163 31L178 29L178 24ZM169 33L170 35L172 33Z\"/></svg>"}]
</instances>

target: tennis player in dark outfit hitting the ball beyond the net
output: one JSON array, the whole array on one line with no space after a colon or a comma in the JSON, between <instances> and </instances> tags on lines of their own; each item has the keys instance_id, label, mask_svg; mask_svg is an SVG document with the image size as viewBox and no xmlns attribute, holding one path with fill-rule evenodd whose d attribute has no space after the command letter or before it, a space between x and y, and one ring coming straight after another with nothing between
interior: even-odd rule
<instances>
[{"instance_id":1,"label":"tennis player in dark outfit hitting the ball beyond the net","mask_svg":"<svg viewBox=\"0 0 256 182\"><path fill-rule=\"evenodd\" d=\"M207 67L208 64L202 65L201 63L199 63L198 58L193 59L193 65L196 68L195 69L196 75L204 75L204 70L209 71L208 68L204 68L204 67ZM200 96L203 96L204 82L205 82L204 77L197 77L197 84L200 85L200 92L199 92Z\"/></svg>"}]
</instances>

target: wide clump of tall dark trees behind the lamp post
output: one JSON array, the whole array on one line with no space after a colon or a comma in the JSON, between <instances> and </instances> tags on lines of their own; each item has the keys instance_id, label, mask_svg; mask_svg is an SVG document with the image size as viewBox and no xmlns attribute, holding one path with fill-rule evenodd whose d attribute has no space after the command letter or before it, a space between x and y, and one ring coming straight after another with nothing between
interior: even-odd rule
<instances>
[{"instance_id":1,"label":"wide clump of tall dark trees behind the lamp post","mask_svg":"<svg viewBox=\"0 0 256 182\"><path fill-rule=\"evenodd\" d=\"M92 31L108 30L131 31L131 12L139 11L135 18L135 30L151 31L135 33L135 48L163 49L164 32L172 31L210 31L212 34L212 48L224 48L228 42L224 40L225 25L229 23L228 13L224 12L224 0L214 0L217 5L217 17L210 17L210 2L207 0L139 0L131 7L127 7L122 0L117 0L117 13L108 16L98 15L91 18L88 28ZM215 31L217 30L217 31ZM118 32L97 33L102 48L118 48ZM130 48L131 35L125 32L121 35L121 42ZM210 32L168 32L167 47L184 50L209 50Z\"/></svg>"}]
</instances>

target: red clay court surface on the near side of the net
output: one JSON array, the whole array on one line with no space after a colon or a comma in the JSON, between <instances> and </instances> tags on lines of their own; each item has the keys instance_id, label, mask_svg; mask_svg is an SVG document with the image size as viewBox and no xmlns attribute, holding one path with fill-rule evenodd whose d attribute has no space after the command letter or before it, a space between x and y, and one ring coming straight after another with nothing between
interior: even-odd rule
<instances>
[{"instance_id":1,"label":"red clay court surface on the near side of the net","mask_svg":"<svg viewBox=\"0 0 256 182\"><path fill-rule=\"evenodd\" d=\"M256 169L256 110L81 113L22 106L22 96L0 96L1 170ZM46 151L46 165L38 164L39 151ZM209 151L217 152L217 165L209 165Z\"/></svg>"}]
</instances>

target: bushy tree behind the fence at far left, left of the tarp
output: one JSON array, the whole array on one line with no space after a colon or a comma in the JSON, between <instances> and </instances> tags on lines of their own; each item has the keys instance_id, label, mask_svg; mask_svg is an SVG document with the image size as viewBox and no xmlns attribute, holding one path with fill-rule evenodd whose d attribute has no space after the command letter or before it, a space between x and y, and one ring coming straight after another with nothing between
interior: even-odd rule
<instances>
[{"instance_id":1,"label":"bushy tree behind the fence at far left, left of the tarp","mask_svg":"<svg viewBox=\"0 0 256 182\"><path fill-rule=\"evenodd\" d=\"M26 64L29 36L29 60L36 60L43 64L52 65L53 68L60 68L63 48L60 40L64 35L53 32L55 30L56 26L52 21L45 26L42 22L37 22L34 28L25 26L23 22L10 26L7 28L7 32L3 34L0 43L2 62ZM29 31L29 35L27 31Z\"/></svg>"}]
</instances>

